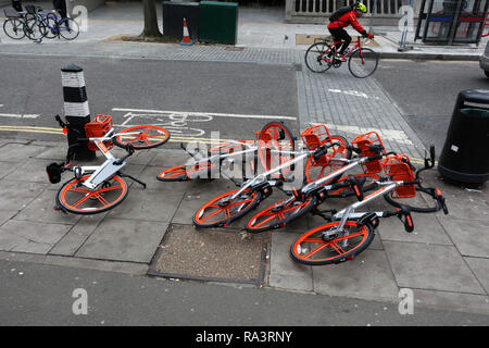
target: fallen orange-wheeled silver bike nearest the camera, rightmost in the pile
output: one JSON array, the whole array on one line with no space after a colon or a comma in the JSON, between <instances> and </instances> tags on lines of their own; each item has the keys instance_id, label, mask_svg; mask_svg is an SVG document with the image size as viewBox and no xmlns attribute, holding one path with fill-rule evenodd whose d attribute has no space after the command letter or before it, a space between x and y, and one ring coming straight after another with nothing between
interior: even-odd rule
<instances>
[{"instance_id":1,"label":"fallen orange-wheeled silver bike nearest the camera, rightmost in the pile","mask_svg":"<svg viewBox=\"0 0 489 348\"><path fill-rule=\"evenodd\" d=\"M412 211L428 213L442 209L444 214L448 214L448 208L441 191L438 188L423 187L419 178L419 173L423 170L434 166L434 152L432 148L431 159L425 159L425 167L419 171L416 171L410 163L408 156L387 156L383 162L387 177L376 182L380 188L341 211L325 211L329 215L318 212L328 223L299 237L290 248L292 259L309 265L352 260L371 245L375 236L375 229L379 225L379 217L398 216L404 224L404 229L411 233L414 231ZM359 188L360 195L363 197L361 186ZM389 195L391 198L412 198L416 195L416 191L429 195L436 204L424 208L396 202L396 209L391 211L355 212L360 207L380 196L386 199Z\"/></svg>"}]
</instances>

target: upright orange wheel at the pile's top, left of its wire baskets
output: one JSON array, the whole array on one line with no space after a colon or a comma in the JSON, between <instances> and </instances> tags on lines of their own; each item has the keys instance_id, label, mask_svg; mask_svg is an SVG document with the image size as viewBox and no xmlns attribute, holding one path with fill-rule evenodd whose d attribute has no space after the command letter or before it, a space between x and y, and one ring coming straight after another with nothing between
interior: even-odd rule
<instances>
[{"instance_id":1,"label":"upright orange wheel at the pile's top, left of its wire baskets","mask_svg":"<svg viewBox=\"0 0 489 348\"><path fill-rule=\"evenodd\" d=\"M293 158L290 153L294 150L294 140L292 133L281 122L267 123L259 136L259 157L265 171L288 162ZM279 152L283 151L283 152ZM293 170L293 165L286 167L281 174L287 174Z\"/></svg>"}]
</instances>

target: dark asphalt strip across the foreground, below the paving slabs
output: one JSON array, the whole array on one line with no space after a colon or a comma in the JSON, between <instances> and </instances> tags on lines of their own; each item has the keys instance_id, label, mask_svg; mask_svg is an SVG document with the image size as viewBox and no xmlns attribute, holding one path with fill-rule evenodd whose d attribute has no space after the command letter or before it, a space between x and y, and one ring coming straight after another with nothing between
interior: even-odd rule
<instances>
[{"instance_id":1,"label":"dark asphalt strip across the foreground, below the paving slabs","mask_svg":"<svg viewBox=\"0 0 489 348\"><path fill-rule=\"evenodd\" d=\"M173 282L122 273L0 260L0 325L161 325L226 332L260 326L297 332L298 326L461 326L486 325L487 315L430 310L414 304L400 314L399 303L316 296L273 289ZM53 279L53 281L49 281ZM78 299L85 290L85 309ZM74 310L75 309L75 310ZM76 314L75 314L76 313ZM287 327L285 327L287 326ZM289 327L294 326L294 327ZM265 328L265 327L264 327ZM312 331L312 333L323 334ZM308 334L310 331L305 331ZM303 334L304 332L302 332ZM330 332L329 332L330 333ZM170 334L170 335L168 335ZM178 336L164 332L160 339ZM351 334L351 333L350 333ZM180 336L183 347L195 335ZM242 336L241 336L242 337ZM317 343L317 335L294 335L293 345ZM360 336L364 339L364 336ZM178 338L178 337L177 337ZM351 340L354 337L350 337ZM361 341L359 341L361 343ZM218 346L218 345L217 345ZM223 345L224 346L224 345ZM230 347L240 347L234 341ZM249 345L248 345L249 346ZM247 347L248 347L247 346ZM275 345L264 344L263 347ZM279 345L284 347L283 345ZM210 347L204 345L204 347Z\"/></svg>"}]
</instances>

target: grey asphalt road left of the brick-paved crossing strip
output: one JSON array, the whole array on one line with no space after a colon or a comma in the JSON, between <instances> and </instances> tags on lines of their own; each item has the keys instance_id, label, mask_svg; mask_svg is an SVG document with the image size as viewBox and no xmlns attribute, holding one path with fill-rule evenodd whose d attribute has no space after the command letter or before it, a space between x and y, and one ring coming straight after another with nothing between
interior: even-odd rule
<instances>
[{"instance_id":1,"label":"grey asphalt road left of the brick-paved crossing strip","mask_svg":"<svg viewBox=\"0 0 489 348\"><path fill-rule=\"evenodd\" d=\"M222 139L252 139L267 122L285 120L299 132L291 65L3 55L0 76L8 84L0 89L0 137L63 140L25 127L58 127L53 115L64 114L61 67L68 63L84 69L91 115L110 114L114 124L160 124L186 137L220 132Z\"/></svg>"}]
</instances>

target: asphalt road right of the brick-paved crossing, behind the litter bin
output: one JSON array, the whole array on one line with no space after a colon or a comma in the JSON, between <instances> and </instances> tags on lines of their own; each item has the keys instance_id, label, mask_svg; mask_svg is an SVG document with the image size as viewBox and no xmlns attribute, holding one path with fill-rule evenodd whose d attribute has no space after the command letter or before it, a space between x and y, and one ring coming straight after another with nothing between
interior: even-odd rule
<instances>
[{"instance_id":1,"label":"asphalt road right of the brick-paved crossing, behind the litter bin","mask_svg":"<svg viewBox=\"0 0 489 348\"><path fill-rule=\"evenodd\" d=\"M489 89L478 62L381 60L374 78L426 147L444 144L455 100L464 89Z\"/></svg>"}]
</instances>

